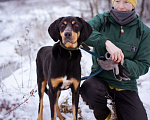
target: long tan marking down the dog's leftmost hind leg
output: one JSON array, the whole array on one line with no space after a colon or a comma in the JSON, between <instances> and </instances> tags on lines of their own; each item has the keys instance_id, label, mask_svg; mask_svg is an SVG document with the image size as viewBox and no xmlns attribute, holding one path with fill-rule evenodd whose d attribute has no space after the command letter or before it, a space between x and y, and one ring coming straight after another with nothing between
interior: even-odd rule
<instances>
[{"instance_id":1,"label":"long tan marking down the dog's leftmost hind leg","mask_svg":"<svg viewBox=\"0 0 150 120\"><path fill-rule=\"evenodd\" d=\"M44 81L42 82L42 88L41 88L40 112L37 120L43 120L43 96L44 96L46 85L47 85L47 80L44 78Z\"/></svg>"}]
</instances>

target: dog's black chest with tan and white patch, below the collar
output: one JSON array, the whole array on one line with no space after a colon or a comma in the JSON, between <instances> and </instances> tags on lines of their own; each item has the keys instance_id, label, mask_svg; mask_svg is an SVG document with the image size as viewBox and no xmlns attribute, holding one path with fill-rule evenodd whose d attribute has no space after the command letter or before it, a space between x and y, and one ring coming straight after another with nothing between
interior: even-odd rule
<instances>
[{"instance_id":1,"label":"dog's black chest with tan and white patch, below the collar","mask_svg":"<svg viewBox=\"0 0 150 120\"><path fill-rule=\"evenodd\" d=\"M55 49L56 50L56 49ZM81 52L80 50L67 51L62 48L53 51L50 79L58 84L61 90L68 89L74 81L81 79ZM55 85L54 85L55 86Z\"/></svg>"}]
</instances>

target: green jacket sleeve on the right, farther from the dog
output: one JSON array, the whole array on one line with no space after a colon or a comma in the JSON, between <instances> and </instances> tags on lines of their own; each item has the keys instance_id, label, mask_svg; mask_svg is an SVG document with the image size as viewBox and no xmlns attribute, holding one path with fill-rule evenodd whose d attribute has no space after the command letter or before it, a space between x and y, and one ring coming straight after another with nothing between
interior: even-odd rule
<instances>
[{"instance_id":1,"label":"green jacket sleeve on the right, farther from the dog","mask_svg":"<svg viewBox=\"0 0 150 120\"><path fill-rule=\"evenodd\" d=\"M131 79L137 79L146 74L150 67L150 28L144 28L141 37L141 43L134 60L124 60L124 66L130 71L129 77Z\"/></svg>"}]
</instances>

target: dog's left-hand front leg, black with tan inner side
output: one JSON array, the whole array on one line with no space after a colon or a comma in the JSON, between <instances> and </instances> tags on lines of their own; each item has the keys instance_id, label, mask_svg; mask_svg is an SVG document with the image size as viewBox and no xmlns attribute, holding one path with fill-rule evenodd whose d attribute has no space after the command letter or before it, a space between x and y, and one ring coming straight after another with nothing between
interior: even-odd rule
<instances>
[{"instance_id":1,"label":"dog's left-hand front leg, black with tan inner side","mask_svg":"<svg viewBox=\"0 0 150 120\"><path fill-rule=\"evenodd\" d=\"M49 89L51 120L56 120L56 98L57 98L57 92L52 92L52 89Z\"/></svg>"}]
</instances>

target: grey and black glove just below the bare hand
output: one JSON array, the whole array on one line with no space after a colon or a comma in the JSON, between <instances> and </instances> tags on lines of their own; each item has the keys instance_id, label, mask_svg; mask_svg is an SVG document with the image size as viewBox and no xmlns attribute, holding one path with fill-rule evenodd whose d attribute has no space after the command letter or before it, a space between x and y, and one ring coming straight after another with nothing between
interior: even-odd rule
<instances>
[{"instance_id":1,"label":"grey and black glove just below the bare hand","mask_svg":"<svg viewBox=\"0 0 150 120\"><path fill-rule=\"evenodd\" d=\"M123 80L131 80L129 76L126 74L130 74L130 72L123 66L123 63L116 63L112 61L111 59L106 59L104 57L101 57L102 59L97 58L98 64L104 69L104 70L113 70L114 77L122 81Z\"/></svg>"}]
</instances>

